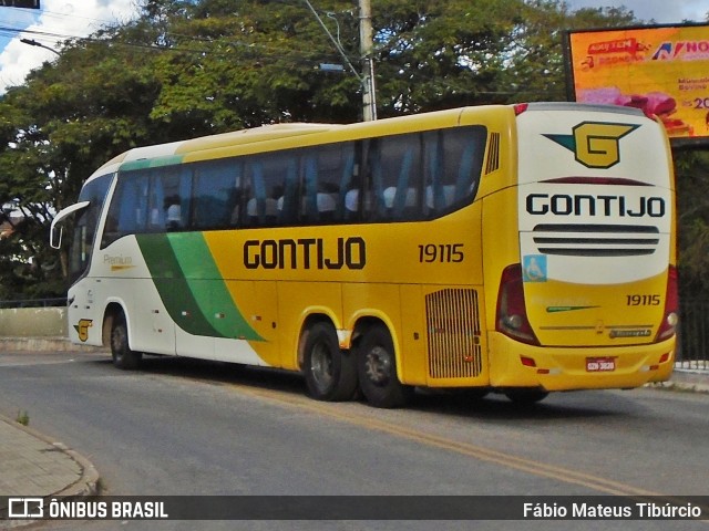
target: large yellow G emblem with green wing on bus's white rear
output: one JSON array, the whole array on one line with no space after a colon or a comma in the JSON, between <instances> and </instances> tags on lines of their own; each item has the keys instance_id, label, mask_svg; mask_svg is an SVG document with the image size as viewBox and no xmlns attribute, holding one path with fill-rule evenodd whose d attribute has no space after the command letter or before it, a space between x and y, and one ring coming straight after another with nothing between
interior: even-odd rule
<instances>
[{"instance_id":1,"label":"large yellow G emblem with green wing on bus's white rear","mask_svg":"<svg viewBox=\"0 0 709 531\"><path fill-rule=\"evenodd\" d=\"M620 138L639 125L583 122L573 135L544 135L574 152L576 162L587 168L607 169L620 162Z\"/></svg>"}]
</instances>

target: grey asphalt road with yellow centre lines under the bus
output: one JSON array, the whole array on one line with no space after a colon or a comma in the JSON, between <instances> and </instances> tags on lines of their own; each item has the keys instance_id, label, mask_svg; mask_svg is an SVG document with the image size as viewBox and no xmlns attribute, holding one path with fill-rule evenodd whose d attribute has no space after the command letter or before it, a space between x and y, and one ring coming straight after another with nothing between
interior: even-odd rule
<instances>
[{"instance_id":1,"label":"grey asphalt road with yellow centre lines under the bus","mask_svg":"<svg viewBox=\"0 0 709 531\"><path fill-rule=\"evenodd\" d=\"M417 394L327 404L295 375L179 358L0 353L0 413L88 457L105 494L709 494L709 395L662 389ZM49 522L48 522L49 523ZM41 529L74 529L52 522ZM701 522L475 522L475 529L707 529ZM81 529L402 529L401 522L82 522ZM407 529L471 529L407 522Z\"/></svg>"}]
</instances>

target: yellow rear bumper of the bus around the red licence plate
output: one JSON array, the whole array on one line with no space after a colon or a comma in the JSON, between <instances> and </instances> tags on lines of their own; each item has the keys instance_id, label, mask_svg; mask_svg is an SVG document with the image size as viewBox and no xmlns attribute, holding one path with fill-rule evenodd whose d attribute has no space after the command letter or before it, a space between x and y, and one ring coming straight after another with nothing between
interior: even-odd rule
<instances>
[{"instance_id":1,"label":"yellow rear bumper of the bus around the red licence plate","mask_svg":"<svg viewBox=\"0 0 709 531\"><path fill-rule=\"evenodd\" d=\"M541 347L490 333L490 385L546 391L639 387L669 379L675 337L661 343L609 347ZM614 371L588 372L588 357L613 358ZM523 358L526 364L523 364ZM534 366L530 366L533 361Z\"/></svg>"}]
</instances>

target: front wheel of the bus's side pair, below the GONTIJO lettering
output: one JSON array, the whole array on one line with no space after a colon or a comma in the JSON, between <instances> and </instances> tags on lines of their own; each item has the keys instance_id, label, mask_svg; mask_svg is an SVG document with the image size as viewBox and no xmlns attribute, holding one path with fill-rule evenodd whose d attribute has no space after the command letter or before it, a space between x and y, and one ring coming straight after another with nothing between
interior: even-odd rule
<instances>
[{"instance_id":1,"label":"front wheel of the bus's side pair, below the GONTIJO lettering","mask_svg":"<svg viewBox=\"0 0 709 531\"><path fill-rule=\"evenodd\" d=\"M354 355L340 348L330 323L316 323L307 334L302 372L308 393L317 400L351 400L357 392Z\"/></svg>"}]
</instances>

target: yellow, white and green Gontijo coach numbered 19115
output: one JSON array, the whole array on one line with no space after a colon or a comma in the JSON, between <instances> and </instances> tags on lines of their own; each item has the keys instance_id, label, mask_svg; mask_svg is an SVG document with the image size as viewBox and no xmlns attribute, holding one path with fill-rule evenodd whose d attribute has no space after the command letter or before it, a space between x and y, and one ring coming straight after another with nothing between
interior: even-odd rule
<instances>
[{"instance_id":1,"label":"yellow, white and green Gontijo coach numbered 19115","mask_svg":"<svg viewBox=\"0 0 709 531\"><path fill-rule=\"evenodd\" d=\"M572 103L277 124L129 150L85 183L70 335L298 371L395 407L667 379L678 315L662 126Z\"/></svg>"}]
</instances>

